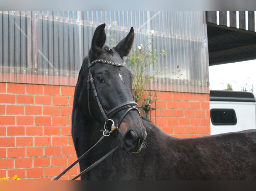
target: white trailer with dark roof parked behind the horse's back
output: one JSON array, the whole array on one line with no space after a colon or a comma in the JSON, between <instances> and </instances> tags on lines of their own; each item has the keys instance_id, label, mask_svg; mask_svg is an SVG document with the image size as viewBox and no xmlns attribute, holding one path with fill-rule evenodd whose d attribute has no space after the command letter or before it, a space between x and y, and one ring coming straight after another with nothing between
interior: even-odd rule
<instances>
[{"instance_id":1,"label":"white trailer with dark roof parked behind the horse's back","mask_svg":"<svg viewBox=\"0 0 256 191\"><path fill-rule=\"evenodd\" d=\"M249 92L211 90L211 135L256 129L255 97Z\"/></svg>"}]
</instances>

